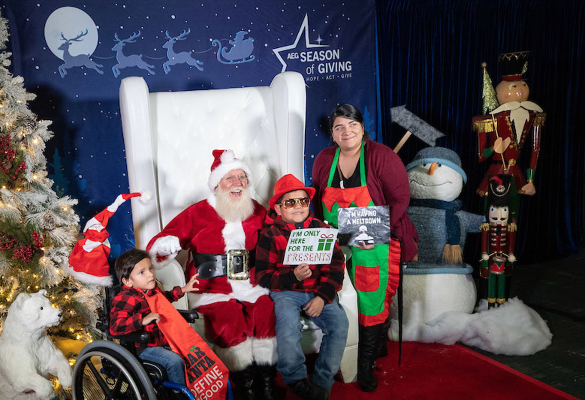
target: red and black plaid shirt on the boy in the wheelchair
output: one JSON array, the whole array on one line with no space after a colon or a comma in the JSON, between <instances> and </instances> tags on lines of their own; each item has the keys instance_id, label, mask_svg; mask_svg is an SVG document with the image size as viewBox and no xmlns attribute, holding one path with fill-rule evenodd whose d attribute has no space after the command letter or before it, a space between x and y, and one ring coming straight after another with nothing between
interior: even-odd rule
<instances>
[{"instance_id":1,"label":"red and black plaid shirt on the boy in the wheelchair","mask_svg":"<svg viewBox=\"0 0 585 400\"><path fill-rule=\"evenodd\" d=\"M151 294L152 291L164 294L170 302L177 301L184 295L178 286L167 292L154 288L146 293ZM142 319L150 313L150 307L146 302L146 298L144 298L145 295L141 289L122 285L122 290L112 299L112 309L110 311L109 329L112 335L126 335L126 333L136 332L137 330L145 330L149 333L149 343L136 343L136 347L140 350L144 350L146 347L164 346L168 343L156 323L142 325Z\"/></svg>"}]
</instances>

